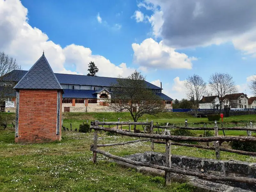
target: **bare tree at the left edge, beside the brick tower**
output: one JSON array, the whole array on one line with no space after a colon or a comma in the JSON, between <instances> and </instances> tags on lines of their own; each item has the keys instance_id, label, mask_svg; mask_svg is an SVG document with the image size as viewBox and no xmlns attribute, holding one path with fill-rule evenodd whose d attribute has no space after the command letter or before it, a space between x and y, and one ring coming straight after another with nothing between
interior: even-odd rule
<instances>
[{"instance_id":1,"label":"bare tree at the left edge, beside the brick tower","mask_svg":"<svg viewBox=\"0 0 256 192\"><path fill-rule=\"evenodd\" d=\"M0 102L1 105L6 97L13 93L13 87L17 83L19 73L15 70L20 70L15 59L9 57L4 52L0 52ZM14 71L13 71L14 70ZM10 73L12 71L12 73Z\"/></svg>"}]
</instances>

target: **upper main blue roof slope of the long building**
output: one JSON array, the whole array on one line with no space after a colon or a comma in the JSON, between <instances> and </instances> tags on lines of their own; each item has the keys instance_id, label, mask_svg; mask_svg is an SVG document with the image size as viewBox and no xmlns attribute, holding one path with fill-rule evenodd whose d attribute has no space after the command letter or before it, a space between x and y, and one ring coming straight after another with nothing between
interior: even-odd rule
<instances>
[{"instance_id":1,"label":"upper main blue roof slope of the long building","mask_svg":"<svg viewBox=\"0 0 256 192\"><path fill-rule=\"evenodd\" d=\"M16 81L20 81L20 79L27 72L28 71L23 71L23 70L13 70L4 76L3 81L8 81L8 80L10 81L10 76L14 76L14 79ZM102 86L102 87L111 87L117 84L116 79L118 79L114 77L72 75L72 74L61 74L61 73L55 73L55 76L57 77L60 84L93 85L93 86ZM160 87L153 85L147 81L145 82L148 85L149 89L161 89Z\"/></svg>"}]
</instances>

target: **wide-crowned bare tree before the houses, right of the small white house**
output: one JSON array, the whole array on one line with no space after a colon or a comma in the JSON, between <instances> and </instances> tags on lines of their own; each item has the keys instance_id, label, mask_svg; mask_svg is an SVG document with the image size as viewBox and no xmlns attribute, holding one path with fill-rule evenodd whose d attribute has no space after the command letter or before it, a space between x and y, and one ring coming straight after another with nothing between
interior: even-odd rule
<instances>
[{"instance_id":1,"label":"wide-crowned bare tree before the houses, right of the small white house","mask_svg":"<svg viewBox=\"0 0 256 192\"><path fill-rule=\"evenodd\" d=\"M237 92L235 81L228 73L213 73L209 78L211 91L220 98L220 112L223 110L223 98L226 94Z\"/></svg>"}]
</instances>

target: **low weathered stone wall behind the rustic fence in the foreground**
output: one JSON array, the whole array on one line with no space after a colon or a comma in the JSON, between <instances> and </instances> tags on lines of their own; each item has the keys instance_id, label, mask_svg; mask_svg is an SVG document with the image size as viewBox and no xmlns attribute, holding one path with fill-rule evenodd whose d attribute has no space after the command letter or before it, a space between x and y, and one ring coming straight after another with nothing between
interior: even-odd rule
<instances>
[{"instance_id":1,"label":"low weathered stone wall behind the rustic fence in the foreground","mask_svg":"<svg viewBox=\"0 0 256 192\"><path fill-rule=\"evenodd\" d=\"M158 164L165 166L165 154L157 152L145 152L128 156L133 161ZM244 161L221 161L197 157L172 155L172 166L194 172L201 172L218 176L242 176L256 178L256 163ZM255 186L238 182L221 182L226 185L250 189L256 191Z\"/></svg>"}]
</instances>

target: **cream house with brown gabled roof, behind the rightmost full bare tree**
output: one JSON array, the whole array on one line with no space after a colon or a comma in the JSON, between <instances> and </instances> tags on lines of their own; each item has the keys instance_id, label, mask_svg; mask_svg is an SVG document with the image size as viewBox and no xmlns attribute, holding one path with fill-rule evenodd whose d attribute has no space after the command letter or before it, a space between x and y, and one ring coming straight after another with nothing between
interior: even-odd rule
<instances>
[{"instance_id":1,"label":"cream house with brown gabled roof, behind the rightmost full bare tree","mask_svg":"<svg viewBox=\"0 0 256 192\"><path fill-rule=\"evenodd\" d=\"M223 108L249 108L249 98L244 93L227 94L223 97Z\"/></svg>"}]
</instances>

